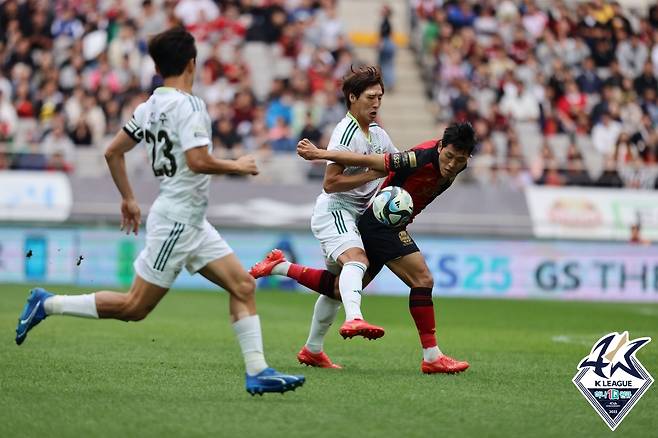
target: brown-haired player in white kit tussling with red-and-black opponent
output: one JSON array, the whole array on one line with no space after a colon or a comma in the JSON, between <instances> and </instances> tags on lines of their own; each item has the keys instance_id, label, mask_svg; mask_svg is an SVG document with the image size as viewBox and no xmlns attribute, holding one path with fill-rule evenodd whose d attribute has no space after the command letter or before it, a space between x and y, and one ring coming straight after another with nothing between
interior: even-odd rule
<instances>
[{"instance_id":1,"label":"brown-haired player in white kit tussling with red-and-black opponent","mask_svg":"<svg viewBox=\"0 0 658 438\"><path fill-rule=\"evenodd\" d=\"M352 71L343 81L343 94L348 112L336 125L327 149L358 154L398 152L386 131L375 123L384 95L384 84L379 70L375 67L363 67ZM384 172L365 167L345 167L328 162L324 190L315 202L311 230L320 241L327 269L334 274L340 271L338 285L345 307L345 322L339 332L343 338L363 336L367 339L377 339L384 336L384 329L365 321L361 313L362 281L368 268L368 258L356 221L365 211L385 175ZM270 274L292 278L305 275L302 271L289 272L290 264L279 263L278 257L283 257L280 251L271 252L265 260L254 265L250 273L255 278ZM308 280L311 283L319 281ZM303 282L302 278L302 284ZM318 298L308 340L297 355L300 362L338 367L331 364L322 348L324 336L335 319L340 304L340 301L325 295Z\"/></svg>"}]
</instances>

